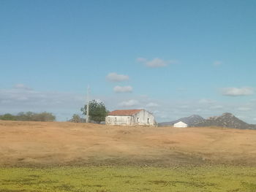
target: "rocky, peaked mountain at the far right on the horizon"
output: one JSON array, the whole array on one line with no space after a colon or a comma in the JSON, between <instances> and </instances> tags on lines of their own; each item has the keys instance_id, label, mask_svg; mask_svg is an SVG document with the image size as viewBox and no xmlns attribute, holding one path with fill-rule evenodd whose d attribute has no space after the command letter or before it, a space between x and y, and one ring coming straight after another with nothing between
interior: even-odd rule
<instances>
[{"instance_id":1,"label":"rocky, peaked mountain at the far right on the horizon","mask_svg":"<svg viewBox=\"0 0 256 192\"><path fill-rule=\"evenodd\" d=\"M245 123L243 120L236 118L229 112L225 112L220 116L210 117L201 122L195 123L194 126L220 126L227 128L239 128L239 129L256 129L255 125Z\"/></svg>"}]
</instances>

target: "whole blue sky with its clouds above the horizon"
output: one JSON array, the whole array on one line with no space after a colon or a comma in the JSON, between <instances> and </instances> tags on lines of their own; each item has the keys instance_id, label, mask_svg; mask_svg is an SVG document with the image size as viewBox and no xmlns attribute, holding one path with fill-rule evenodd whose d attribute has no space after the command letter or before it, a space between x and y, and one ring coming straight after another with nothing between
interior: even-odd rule
<instances>
[{"instance_id":1,"label":"whole blue sky with its clouds above the horizon","mask_svg":"<svg viewBox=\"0 0 256 192\"><path fill-rule=\"evenodd\" d=\"M256 1L0 1L0 113L146 108L256 123Z\"/></svg>"}]
</instances>

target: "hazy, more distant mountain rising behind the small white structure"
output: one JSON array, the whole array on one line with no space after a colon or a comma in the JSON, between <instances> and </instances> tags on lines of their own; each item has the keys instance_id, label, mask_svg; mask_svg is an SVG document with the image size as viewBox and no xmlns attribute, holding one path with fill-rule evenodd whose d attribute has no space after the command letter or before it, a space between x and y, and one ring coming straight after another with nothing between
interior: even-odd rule
<instances>
[{"instance_id":1,"label":"hazy, more distant mountain rising behind the small white structure","mask_svg":"<svg viewBox=\"0 0 256 192\"><path fill-rule=\"evenodd\" d=\"M196 123L200 123L204 120L205 119L202 118L200 115L191 115L187 118L180 118L178 120L173 120L170 122L158 123L158 126L173 126L173 124L178 123L179 121L186 123L188 126L194 126Z\"/></svg>"}]
</instances>

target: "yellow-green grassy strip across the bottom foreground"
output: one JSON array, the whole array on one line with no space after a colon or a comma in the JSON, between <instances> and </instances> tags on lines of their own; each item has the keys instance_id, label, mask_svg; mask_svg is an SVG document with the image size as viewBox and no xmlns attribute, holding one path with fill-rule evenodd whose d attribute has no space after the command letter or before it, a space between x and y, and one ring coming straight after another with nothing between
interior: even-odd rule
<instances>
[{"instance_id":1,"label":"yellow-green grassy strip across the bottom foreground","mask_svg":"<svg viewBox=\"0 0 256 192\"><path fill-rule=\"evenodd\" d=\"M1 192L256 191L256 167L0 168Z\"/></svg>"}]
</instances>

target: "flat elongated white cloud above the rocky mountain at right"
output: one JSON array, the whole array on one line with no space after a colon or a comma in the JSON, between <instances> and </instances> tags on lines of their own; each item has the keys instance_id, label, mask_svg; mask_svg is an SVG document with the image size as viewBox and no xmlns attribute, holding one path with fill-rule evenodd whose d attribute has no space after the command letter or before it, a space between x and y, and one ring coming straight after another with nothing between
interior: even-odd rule
<instances>
[{"instance_id":1,"label":"flat elongated white cloud above the rocky mountain at right","mask_svg":"<svg viewBox=\"0 0 256 192\"><path fill-rule=\"evenodd\" d=\"M249 96L254 93L253 88L222 88L223 96Z\"/></svg>"}]
</instances>

